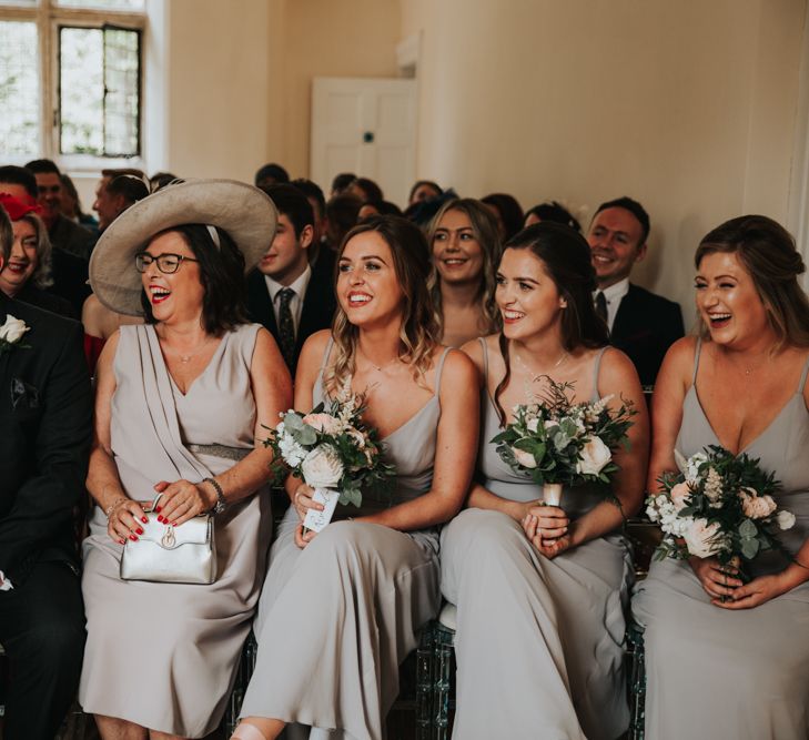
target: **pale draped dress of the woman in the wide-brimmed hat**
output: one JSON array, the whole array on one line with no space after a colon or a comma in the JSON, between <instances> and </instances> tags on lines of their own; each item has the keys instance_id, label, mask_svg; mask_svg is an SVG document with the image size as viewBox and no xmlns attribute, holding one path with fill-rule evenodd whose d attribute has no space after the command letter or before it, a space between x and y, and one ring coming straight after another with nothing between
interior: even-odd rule
<instances>
[{"instance_id":1,"label":"pale draped dress of the woman in the wide-brimmed hat","mask_svg":"<svg viewBox=\"0 0 809 740\"><path fill-rule=\"evenodd\" d=\"M253 449L250 364L257 324L225 334L185 395L165 367L153 326L122 326L114 358L111 442L121 483L151 500L159 480L199 481ZM98 507L84 540L88 640L84 711L201 738L219 724L259 599L272 536L262 489L215 519L211 586L125 581L123 547Z\"/></svg>"}]
</instances>

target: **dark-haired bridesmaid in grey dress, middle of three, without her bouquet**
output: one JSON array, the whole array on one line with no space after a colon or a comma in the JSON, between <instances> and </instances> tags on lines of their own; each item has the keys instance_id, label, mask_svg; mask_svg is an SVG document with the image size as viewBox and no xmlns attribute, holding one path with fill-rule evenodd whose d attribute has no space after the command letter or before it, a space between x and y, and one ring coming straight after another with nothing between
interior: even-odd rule
<instances>
[{"instance_id":1,"label":"dark-haired bridesmaid in grey dress, middle of three, without her bouquet","mask_svg":"<svg viewBox=\"0 0 809 740\"><path fill-rule=\"evenodd\" d=\"M497 267L503 332L464 346L485 387L478 481L442 533L442 591L457 606L454 738L614 740L628 724L631 561L620 528L643 500L648 419L635 367L606 346L594 287L580 234L529 226ZM620 508L587 486L565 488L559 506L540 505L536 484L497 454L493 437L548 378L570 384L575 401L635 403L631 449L615 454Z\"/></svg>"}]
</instances>

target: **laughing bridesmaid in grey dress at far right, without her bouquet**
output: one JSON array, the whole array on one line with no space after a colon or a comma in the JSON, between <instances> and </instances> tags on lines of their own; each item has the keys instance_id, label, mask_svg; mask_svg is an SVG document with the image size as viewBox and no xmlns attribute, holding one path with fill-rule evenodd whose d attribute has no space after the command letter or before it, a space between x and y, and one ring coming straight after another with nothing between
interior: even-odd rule
<instances>
[{"instance_id":1,"label":"laughing bridesmaid in grey dress at far right, without her bouquet","mask_svg":"<svg viewBox=\"0 0 809 740\"><path fill-rule=\"evenodd\" d=\"M796 516L744 584L715 558L654 561L633 599L646 627L646 737L809 737L809 301L790 234L728 221L695 256L699 337L671 346L654 396L649 490L707 445L758 458ZM717 711L720 709L720 711Z\"/></svg>"}]
</instances>

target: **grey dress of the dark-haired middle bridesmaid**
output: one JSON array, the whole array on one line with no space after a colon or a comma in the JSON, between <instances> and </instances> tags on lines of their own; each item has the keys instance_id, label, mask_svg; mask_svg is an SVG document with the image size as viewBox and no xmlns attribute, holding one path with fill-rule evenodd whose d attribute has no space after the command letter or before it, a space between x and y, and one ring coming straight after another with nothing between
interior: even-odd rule
<instances>
[{"instance_id":1,"label":"grey dress of the dark-haired middle bridesmaid","mask_svg":"<svg viewBox=\"0 0 809 740\"><path fill-rule=\"evenodd\" d=\"M600 361L601 354L595 388ZM500 427L487 387L483 485L503 498L536 500L539 488L489 442ZM560 506L576 519L603 498L594 488L565 488ZM457 606L453 738L615 740L626 730L624 611L633 570L623 537L600 537L549 560L509 516L472 508L444 528L441 561L442 591Z\"/></svg>"}]
</instances>

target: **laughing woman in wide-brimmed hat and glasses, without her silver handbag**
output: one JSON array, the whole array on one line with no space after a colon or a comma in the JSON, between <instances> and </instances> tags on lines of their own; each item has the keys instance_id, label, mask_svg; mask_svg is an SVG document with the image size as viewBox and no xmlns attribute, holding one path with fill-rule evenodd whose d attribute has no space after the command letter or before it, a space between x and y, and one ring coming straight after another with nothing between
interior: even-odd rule
<instances>
[{"instance_id":1,"label":"laughing woman in wide-brimmed hat and glasses, without her silver handbag","mask_svg":"<svg viewBox=\"0 0 809 740\"><path fill-rule=\"evenodd\" d=\"M119 216L90 262L101 303L145 318L109 339L97 374L80 701L104 738L201 738L225 708L271 535L271 453L255 443L291 399L281 354L243 304L275 221L250 185L185 182ZM155 494L179 531L215 513L210 586L121 579Z\"/></svg>"}]
</instances>

